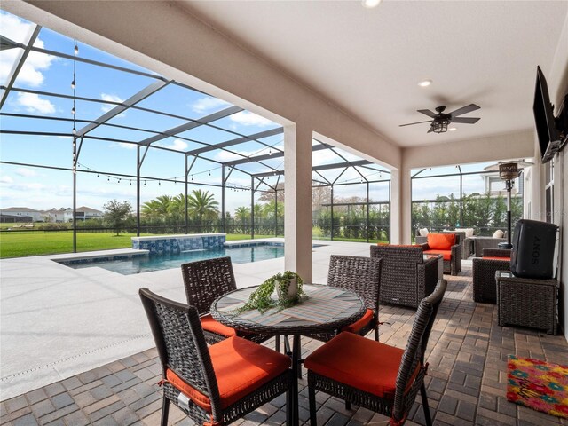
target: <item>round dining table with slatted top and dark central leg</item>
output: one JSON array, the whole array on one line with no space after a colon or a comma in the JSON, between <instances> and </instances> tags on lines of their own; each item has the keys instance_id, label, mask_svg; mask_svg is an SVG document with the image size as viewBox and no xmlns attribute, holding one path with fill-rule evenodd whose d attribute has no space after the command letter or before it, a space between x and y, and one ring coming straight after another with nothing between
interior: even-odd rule
<instances>
[{"instance_id":1,"label":"round dining table with slatted top and dark central leg","mask_svg":"<svg viewBox=\"0 0 568 426\"><path fill-rule=\"evenodd\" d=\"M350 290L316 284L304 284L307 298L300 304L279 311L237 312L256 287L241 288L219 297L211 305L211 315L228 327L248 333L291 335L293 338L292 374L297 377L301 335L329 335L363 317L365 304ZM298 418L298 383L292 383L291 401L287 404L288 423L296 426Z\"/></svg>"}]
</instances>

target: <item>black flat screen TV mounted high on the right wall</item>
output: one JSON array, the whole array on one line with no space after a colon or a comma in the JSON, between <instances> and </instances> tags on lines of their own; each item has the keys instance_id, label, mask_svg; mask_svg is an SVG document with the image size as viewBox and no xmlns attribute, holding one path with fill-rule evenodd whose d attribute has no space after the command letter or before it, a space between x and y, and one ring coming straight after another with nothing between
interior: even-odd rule
<instances>
[{"instance_id":1,"label":"black flat screen TV mounted high on the right wall","mask_svg":"<svg viewBox=\"0 0 568 426\"><path fill-rule=\"evenodd\" d=\"M543 163L549 162L561 145L560 131L556 129L553 108L548 96L547 80L540 67L536 67L533 112Z\"/></svg>"}]
</instances>

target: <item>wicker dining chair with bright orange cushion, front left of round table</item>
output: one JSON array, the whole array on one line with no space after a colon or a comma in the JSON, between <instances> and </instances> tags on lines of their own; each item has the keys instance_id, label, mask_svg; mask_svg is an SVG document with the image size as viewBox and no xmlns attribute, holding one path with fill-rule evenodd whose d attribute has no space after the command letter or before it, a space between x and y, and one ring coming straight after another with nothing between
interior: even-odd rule
<instances>
[{"instance_id":1,"label":"wicker dining chair with bright orange cushion, front left of round table","mask_svg":"<svg viewBox=\"0 0 568 426\"><path fill-rule=\"evenodd\" d=\"M208 347L195 307L139 295L162 363L162 426L170 403L196 424L224 425L292 388L286 355L238 336Z\"/></svg>"}]
</instances>

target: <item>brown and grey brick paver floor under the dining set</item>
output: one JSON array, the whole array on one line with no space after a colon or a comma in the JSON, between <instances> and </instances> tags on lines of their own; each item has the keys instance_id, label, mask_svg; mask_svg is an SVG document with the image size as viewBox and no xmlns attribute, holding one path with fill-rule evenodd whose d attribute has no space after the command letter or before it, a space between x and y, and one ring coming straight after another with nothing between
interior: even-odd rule
<instances>
[{"instance_id":1,"label":"brown and grey brick paver floor under the dining set","mask_svg":"<svg viewBox=\"0 0 568 426\"><path fill-rule=\"evenodd\" d=\"M434 424L568 425L568 420L538 413L509 403L505 398L507 355L530 356L568 364L568 344L563 335L499 327L493 304L472 301L470 270L461 276L445 276L448 288L432 334L426 377ZM142 308L140 308L142 309ZM413 310L381 307L381 341L404 347L412 327ZM273 347L271 341L266 343ZM319 346L304 339L304 355ZM160 366L155 349L95 368L1 403L1 423L20 425L157 425L162 390L157 386ZM300 382L300 419L308 422L305 379ZM411 410L408 425L424 424L420 397ZM318 424L356 426L385 420L364 408L346 411L343 401L317 394ZM272 400L235 424L280 425L285 422L285 398ZM190 425L175 406L170 424Z\"/></svg>"}]
</instances>

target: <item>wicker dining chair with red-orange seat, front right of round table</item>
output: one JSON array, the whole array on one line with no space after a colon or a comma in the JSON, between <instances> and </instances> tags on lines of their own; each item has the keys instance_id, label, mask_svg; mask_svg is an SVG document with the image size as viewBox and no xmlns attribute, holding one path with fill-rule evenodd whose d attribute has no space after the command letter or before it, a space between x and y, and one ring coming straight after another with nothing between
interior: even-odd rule
<instances>
[{"instance_id":1,"label":"wicker dining chair with red-orange seat, front right of round table","mask_svg":"<svg viewBox=\"0 0 568 426\"><path fill-rule=\"evenodd\" d=\"M397 425L405 422L420 390L426 424L432 424L424 353L445 291L446 280L439 280L434 292L422 300L404 351L342 333L312 352L305 360L312 426L317 424L316 390L388 415L390 424Z\"/></svg>"}]
</instances>

